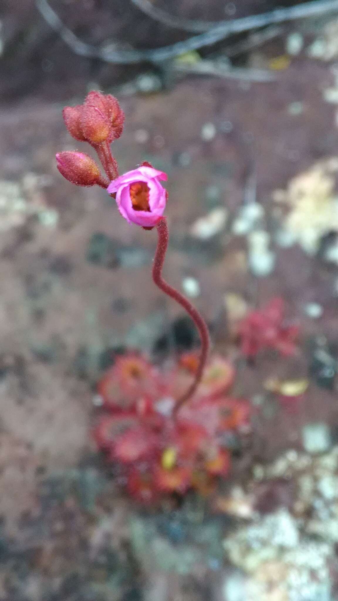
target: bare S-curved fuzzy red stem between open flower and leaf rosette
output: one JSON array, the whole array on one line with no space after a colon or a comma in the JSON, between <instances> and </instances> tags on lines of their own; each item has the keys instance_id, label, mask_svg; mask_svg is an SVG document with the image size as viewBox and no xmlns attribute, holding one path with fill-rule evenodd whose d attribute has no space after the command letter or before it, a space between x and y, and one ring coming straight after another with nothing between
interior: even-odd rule
<instances>
[{"instance_id":1,"label":"bare S-curved fuzzy red stem between open flower and leaf rosette","mask_svg":"<svg viewBox=\"0 0 338 601\"><path fill-rule=\"evenodd\" d=\"M200 313L198 313L194 305L192 305L191 302L188 301L188 299L186 299L185 296L183 296L183 294L176 290L176 288L173 288L170 284L167 284L167 282L162 278L162 267L164 264L165 253L167 252L169 239L167 219L165 219L165 217L162 217L159 220L156 227L158 231L158 245L156 248L156 254L153 263L153 281L155 282L156 286L160 288L160 290L162 290L165 294L168 294L168 296L171 296L171 298L174 299L174 301L178 302L179 305L181 305L181 307L185 309L185 311L194 321L201 338L200 362L195 373L195 379L194 382L192 382L191 386L189 386L185 394L183 394L182 397L177 399L177 403L174 407L174 413L177 413L180 407L182 407L183 403L186 403L186 401L188 401L189 398L192 397L195 390L197 389L198 384L201 381L204 367L207 361L207 356L209 353L210 337L206 322L204 322L203 317Z\"/></svg>"}]
</instances>

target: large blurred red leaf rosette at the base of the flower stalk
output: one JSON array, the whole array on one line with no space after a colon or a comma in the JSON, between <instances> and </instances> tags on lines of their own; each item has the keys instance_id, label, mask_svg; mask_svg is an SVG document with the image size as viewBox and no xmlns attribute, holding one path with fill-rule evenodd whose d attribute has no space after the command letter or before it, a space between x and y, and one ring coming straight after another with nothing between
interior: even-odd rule
<instances>
[{"instance_id":1,"label":"large blurred red leaf rosette at the base of the flower stalk","mask_svg":"<svg viewBox=\"0 0 338 601\"><path fill-rule=\"evenodd\" d=\"M131 353L118 357L99 382L103 414L94 439L108 461L122 468L129 493L141 502L188 489L210 493L217 478L229 474L229 436L250 427L247 401L227 395L234 368L219 356L210 358L198 392L173 419L177 381L183 378L186 389L197 368L196 353L185 353L167 372Z\"/></svg>"}]
</instances>

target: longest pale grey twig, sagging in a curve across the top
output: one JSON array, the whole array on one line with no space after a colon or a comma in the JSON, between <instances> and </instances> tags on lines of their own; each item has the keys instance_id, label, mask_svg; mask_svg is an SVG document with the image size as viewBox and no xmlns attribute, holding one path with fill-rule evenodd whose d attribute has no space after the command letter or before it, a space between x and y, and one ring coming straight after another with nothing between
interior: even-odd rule
<instances>
[{"instance_id":1,"label":"longest pale grey twig, sagging in a curve across the top","mask_svg":"<svg viewBox=\"0 0 338 601\"><path fill-rule=\"evenodd\" d=\"M96 47L85 43L64 25L47 0L35 0L35 2L42 16L60 34L61 38L70 46L73 52L81 56L99 58L107 63L122 64L140 63L142 61L158 63L190 52L191 50L214 44L230 34L249 31L250 29L271 25L271 23L282 23L288 20L331 13L338 10L338 0L314 0L290 8L278 8L269 13L223 22L221 25L217 25L203 34L194 35L188 38L188 40L179 41L169 46L143 50L136 50L134 48L119 50L111 46Z\"/></svg>"}]
</instances>

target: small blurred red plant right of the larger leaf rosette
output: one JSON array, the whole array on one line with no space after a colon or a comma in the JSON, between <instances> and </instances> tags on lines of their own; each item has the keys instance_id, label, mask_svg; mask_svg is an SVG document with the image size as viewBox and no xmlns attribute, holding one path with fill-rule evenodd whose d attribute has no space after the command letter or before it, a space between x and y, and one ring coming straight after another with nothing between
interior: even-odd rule
<instances>
[{"instance_id":1,"label":"small blurred red plant right of the larger leaf rosette","mask_svg":"<svg viewBox=\"0 0 338 601\"><path fill-rule=\"evenodd\" d=\"M251 311L239 326L241 350L247 358L254 358L266 349L277 350L290 356L297 350L300 328L285 325L285 306L280 297L272 299L266 307Z\"/></svg>"}]
</instances>

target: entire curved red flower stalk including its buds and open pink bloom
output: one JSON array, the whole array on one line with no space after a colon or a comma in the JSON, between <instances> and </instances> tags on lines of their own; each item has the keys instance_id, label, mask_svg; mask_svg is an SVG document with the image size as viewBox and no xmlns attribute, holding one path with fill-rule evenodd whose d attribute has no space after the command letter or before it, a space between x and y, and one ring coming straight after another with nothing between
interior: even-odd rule
<instances>
[{"instance_id":1,"label":"entire curved red flower stalk including its buds and open pink bloom","mask_svg":"<svg viewBox=\"0 0 338 601\"><path fill-rule=\"evenodd\" d=\"M162 277L165 253L168 248L168 224L164 216L168 194L161 181L167 174L144 162L137 169L118 175L118 164L111 153L111 142L123 131L124 113L117 100L100 92L90 92L84 103L66 106L63 117L70 135L78 141L88 142L96 151L108 179L101 174L99 166L88 154L63 152L57 154L61 174L77 186L101 186L115 198L118 210L129 223L144 230L158 231L158 245L153 263L153 281L167 296L170 296L194 321L201 338L201 351L194 381L188 390L177 399L173 415L195 393L201 382L210 347L207 325L201 314L178 290Z\"/></svg>"}]
</instances>

